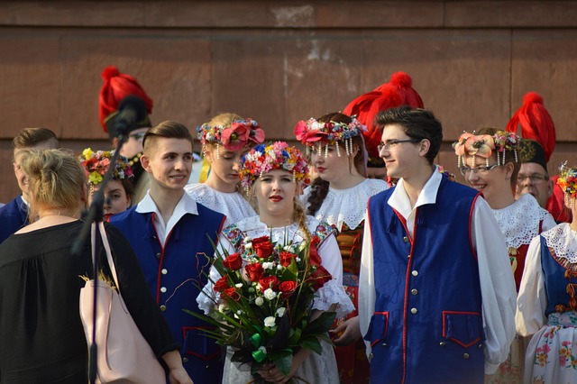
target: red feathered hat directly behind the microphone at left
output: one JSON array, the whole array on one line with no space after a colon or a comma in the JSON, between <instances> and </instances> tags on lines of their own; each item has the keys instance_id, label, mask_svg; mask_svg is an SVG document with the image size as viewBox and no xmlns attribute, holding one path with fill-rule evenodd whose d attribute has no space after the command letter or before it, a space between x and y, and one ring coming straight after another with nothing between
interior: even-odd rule
<instances>
[{"instance_id":1,"label":"red feathered hat directly behind the microphone at left","mask_svg":"<svg viewBox=\"0 0 577 384\"><path fill-rule=\"evenodd\" d=\"M102 71L102 78L105 80L105 84L100 89L98 109L100 112L100 124L105 132L108 132L105 123L106 117L116 112L118 105L126 96L139 96L146 105L146 112L148 114L152 113L152 100L146 95L136 78L120 73L112 65Z\"/></svg>"}]
</instances>

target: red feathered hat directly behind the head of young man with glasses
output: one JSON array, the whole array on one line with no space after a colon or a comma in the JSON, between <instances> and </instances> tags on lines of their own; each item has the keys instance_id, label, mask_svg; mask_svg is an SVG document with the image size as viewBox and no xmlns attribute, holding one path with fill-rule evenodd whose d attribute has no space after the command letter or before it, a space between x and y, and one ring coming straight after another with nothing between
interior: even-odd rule
<instances>
[{"instance_id":1,"label":"red feathered hat directly behind the head of young man with glasses","mask_svg":"<svg viewBox=\"0 0 577 384\"><path fill-rule=\"evenodd\" d=\"M381 133L374 124L377 114L380 111L401 105L423 108L423 100L412 87L412 83L413 80L407 73L396 72L390 77L388 83L358 96L343 109L343 114L356 115L357 120L367 126L367 132L363 133L363 137L369 152L370 165L375 166L377 164L372 162L380 160L377 145L380 143Z\"/></svg>"}]
</instances>

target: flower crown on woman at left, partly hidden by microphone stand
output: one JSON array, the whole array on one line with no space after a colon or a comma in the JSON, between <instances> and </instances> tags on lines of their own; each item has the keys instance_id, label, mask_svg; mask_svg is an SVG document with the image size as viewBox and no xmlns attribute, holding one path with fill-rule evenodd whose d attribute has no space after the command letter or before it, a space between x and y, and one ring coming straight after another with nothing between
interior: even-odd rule
<instances>
[{"instance_id":1,"label":"flower crown on woman at left, partly hidden by microphone stand","mask_svg":"<svg viewBox=\"0 0 577 384\"><path fill-rule=\"evenodd\" d=\"M92 186L100 184L105 176L106 170L110 166L110 159L114 156L114 151L92 151L90 148L82 151L79 160L87 174L88 183ZM124 156L119 156L116 168L112 174L114 180L133 178L133 169Z\"/></svg>"}]
</instances>

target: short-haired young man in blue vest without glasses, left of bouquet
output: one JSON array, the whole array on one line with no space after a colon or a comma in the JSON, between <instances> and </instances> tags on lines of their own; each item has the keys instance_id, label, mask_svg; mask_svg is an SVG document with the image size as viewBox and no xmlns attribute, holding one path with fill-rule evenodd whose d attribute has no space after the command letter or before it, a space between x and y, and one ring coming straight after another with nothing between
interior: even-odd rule
<instances>
[{"instance_id":1,"label":"short-haired young man in blue vest without glasses, left of bouquet","mask_svg":"<svg viewBox=\"0 0 577 384\"><path fill-rule=\"evenodd\" d=\"M224 215L197 204L184 192L192 169L192 137L180 123L163 122L143 138L142 167L151 188L138 206L111 217L131 242L152 295L182 345L181 356L195 383L220 382L220 346L203 334L206 323L183 309L198 310L210 259Z\"/></svg>"}]
</instances>

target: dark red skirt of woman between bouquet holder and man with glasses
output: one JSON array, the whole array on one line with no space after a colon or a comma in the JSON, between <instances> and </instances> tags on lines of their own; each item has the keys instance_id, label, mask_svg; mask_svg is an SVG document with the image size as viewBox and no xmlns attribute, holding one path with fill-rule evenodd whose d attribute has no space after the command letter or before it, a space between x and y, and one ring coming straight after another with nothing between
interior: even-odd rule
<instances>
[{"instance_id":1,"label":"dark red skirt of woman between bouquet holder and man with glasses","mask_svg":"<svg viewBox=\"0 0 577 384\"><path fill-rule=\"evenodd\" d=\"M359 277L352 273L343 273L343 287L347 295L351 297L353 305L358 309ZM337 319L336 323L359 315L355 309L352 313L342 319ZM339 367L339 378L341 384L363 384L368 383L371 378L371 368L367 360L364 342L343 345L334 348L336 363Z\"/></svg>"}]
</instances>

